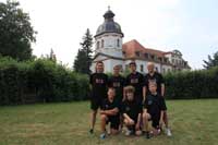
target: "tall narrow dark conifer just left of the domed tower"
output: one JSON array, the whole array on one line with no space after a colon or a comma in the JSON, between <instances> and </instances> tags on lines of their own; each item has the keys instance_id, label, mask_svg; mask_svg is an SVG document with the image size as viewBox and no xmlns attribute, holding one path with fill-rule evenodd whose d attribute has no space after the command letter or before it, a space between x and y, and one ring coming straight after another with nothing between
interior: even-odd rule
<instances>
[{"instance_id":1,"label":"tall narrow dark conifer just left of the domed tower","mask_svg":"<svg viewBox=\"0 0 218 145\"><path fill-rule=\"evenodd\" d=\"M83 36L83 41L80 43L81 49L78 49L77 56L74 61L74 71L78 73L89 74L92 65L92 47L93 47L93 36L87 28L85 35Z\"/></svg>"}]
</instances>

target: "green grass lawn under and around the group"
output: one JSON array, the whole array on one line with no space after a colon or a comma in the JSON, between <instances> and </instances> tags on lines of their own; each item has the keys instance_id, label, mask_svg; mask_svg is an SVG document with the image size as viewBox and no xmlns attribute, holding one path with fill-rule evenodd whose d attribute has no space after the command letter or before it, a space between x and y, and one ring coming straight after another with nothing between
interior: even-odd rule
<instances>
[{"instance_id":1,"label":"green grass lawn under and around the group","mask_svg":"<svg viewBox=\"0 0 218 145\"><path fill-rule=\"evenodd\" d=\"M218 143L218 99L168 100L173 136L146 140L122 134L99 140L99 120L88 134L89 102L0 107L0 145L149 144L199 145Z\"/></svg>"}]
</instances>

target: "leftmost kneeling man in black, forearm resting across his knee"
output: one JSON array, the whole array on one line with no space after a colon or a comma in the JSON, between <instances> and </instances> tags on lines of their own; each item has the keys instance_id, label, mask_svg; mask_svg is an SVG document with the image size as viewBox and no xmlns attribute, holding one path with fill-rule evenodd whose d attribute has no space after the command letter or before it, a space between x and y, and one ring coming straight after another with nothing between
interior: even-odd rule
<instances>
[{"instance_id":1,"label":"leftmost kneeling man in black, forearm resting across his knee","mask_svg":"<svg viewBox=\"0 0 218 145\"><path fill-rule=\"evenodd\" d=\"M100 110L100 126L101 134L100 138L106 137L106 125L110 123L110 133L117 134L119 132L120 124L120 113L119 113L119 102L114 99L116 90L110 87L108 89L108 98L104 100Z\"/></svg>"}]
</instances>

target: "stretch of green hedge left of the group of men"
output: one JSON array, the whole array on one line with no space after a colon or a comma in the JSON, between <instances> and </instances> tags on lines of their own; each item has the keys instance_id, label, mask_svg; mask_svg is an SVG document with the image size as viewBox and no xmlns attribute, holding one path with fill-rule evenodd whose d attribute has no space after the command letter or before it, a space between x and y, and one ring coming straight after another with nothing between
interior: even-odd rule
<instances>
[{"instance_id":1,"label":"stretch of green hedge left of the group of men","mask_svg":"<svg viewBox=\"0 0 218 145\"><path fill-rule=\"evenodd\" d=\"M0 105L84 100L88 77L47 59L0 58Z\"/></svg>"}]
</instances>

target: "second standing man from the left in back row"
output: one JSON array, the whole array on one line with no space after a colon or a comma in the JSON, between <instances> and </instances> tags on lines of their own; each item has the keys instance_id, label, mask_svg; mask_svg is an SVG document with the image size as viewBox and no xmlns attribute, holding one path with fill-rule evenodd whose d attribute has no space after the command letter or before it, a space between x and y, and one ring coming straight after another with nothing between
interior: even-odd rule
<instances>
[{"instance_id":1,"label":"second standing man from the left in back row","mask_svg":"<svg viewBox=\"0 0 218 145\"><path fill-rule=\"evenodd\" d=\"M123 100L123 89L125 85L125 78L120 75L120 67L113 67L113 74L109 77L108 86L116 89L116 99L119 104Z\"/></svg>"}]
</instances>

